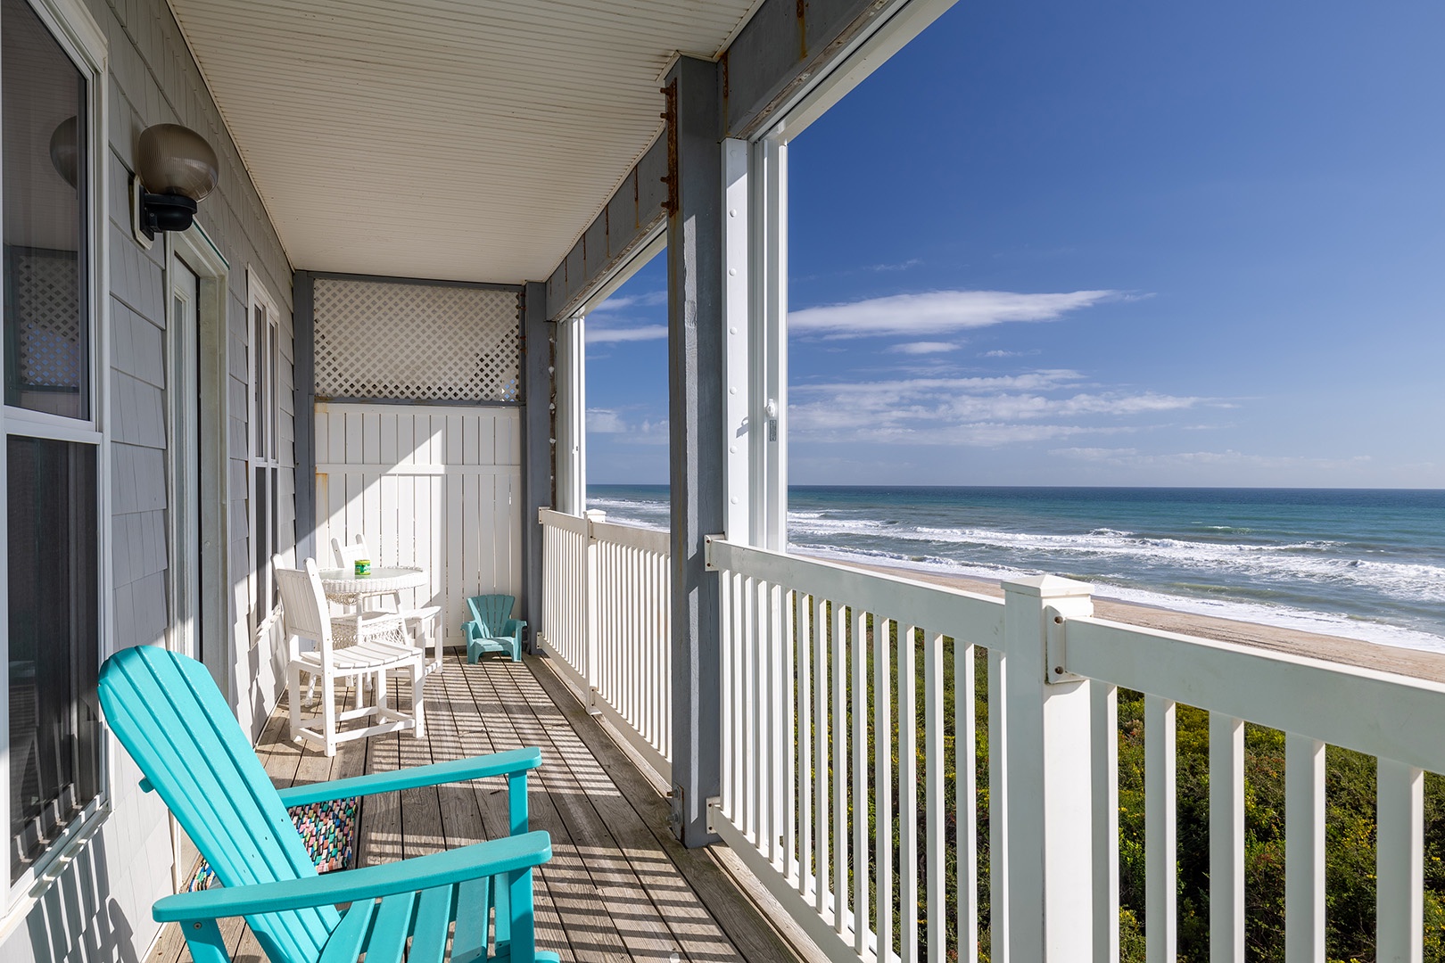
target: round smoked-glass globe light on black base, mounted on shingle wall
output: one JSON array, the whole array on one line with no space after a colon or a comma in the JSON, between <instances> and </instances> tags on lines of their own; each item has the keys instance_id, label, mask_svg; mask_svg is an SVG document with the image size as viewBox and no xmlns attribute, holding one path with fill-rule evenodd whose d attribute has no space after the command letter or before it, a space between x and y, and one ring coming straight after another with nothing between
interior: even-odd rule
<instances>
[{"instance_id":1,"label":"round smoked-glass globe light on black base, mounted on shingle wall","mask_svg":"<svg viewBox=\"0 0 1445 963\"><path fill-rule=\"evenodd\" d=\"M130 178L131 228L150 247L156 231L185 231L197 202L215 189L217 160L201 134L181 124L155 124L140 133Z\"/></svg>"}]
</instances>

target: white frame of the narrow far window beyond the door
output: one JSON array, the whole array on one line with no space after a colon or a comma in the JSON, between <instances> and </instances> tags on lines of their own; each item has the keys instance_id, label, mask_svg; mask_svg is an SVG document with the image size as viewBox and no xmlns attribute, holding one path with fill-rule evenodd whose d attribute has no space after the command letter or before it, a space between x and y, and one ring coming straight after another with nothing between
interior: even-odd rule
<instances>
[{"instance_id":1,"label":"white frame of the narrow far window beyond the door","mask_svg":"<svg viewBox=\"0 0 1445 963\"><path fill-rule=\"evenodd\" d=\"M246 517L247 554L247 628L254 647L262 629L276 615L280 599L270 557L279 553L280 540L280 309L262 283L254 267L246 269ZM263 344L257 344L257 329L264 325ZM263 384L257 384L264 378ZM263 397L264 396L264 397ZM259 409L260 417L257 417ZM256 474L266 472L266 517L260 517ZM266 524L266 559L257 556L260 526ZM263 601L264 599L264 601Z\"/></svg>"}]
</instances>

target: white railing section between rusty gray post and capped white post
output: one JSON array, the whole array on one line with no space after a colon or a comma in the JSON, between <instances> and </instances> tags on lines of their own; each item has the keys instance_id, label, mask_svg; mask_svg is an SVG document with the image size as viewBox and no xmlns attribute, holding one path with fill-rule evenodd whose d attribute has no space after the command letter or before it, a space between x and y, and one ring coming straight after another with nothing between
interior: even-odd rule
<instances>
[{"instance_id":1,"label":"white railing section between rusty gray post and capped white post","mask_svg":"<svg viewBox=\"0 0 1445 963\"><path fill-rule=\"evenodd\" d=\"M884 947L881 959L913 960L922 946L946 959L945 921L955 933L978 925L974 655L997 651L1003 605L720 540L709 567L722 579L712 829L832 959L874 960ZM961 733L946 757L945 728ZM1003 732L990 726L993 758ZM925 904L945 910L894 920ZM965 940L958 959L970 951Z\"/></svg>"}]
</instances>

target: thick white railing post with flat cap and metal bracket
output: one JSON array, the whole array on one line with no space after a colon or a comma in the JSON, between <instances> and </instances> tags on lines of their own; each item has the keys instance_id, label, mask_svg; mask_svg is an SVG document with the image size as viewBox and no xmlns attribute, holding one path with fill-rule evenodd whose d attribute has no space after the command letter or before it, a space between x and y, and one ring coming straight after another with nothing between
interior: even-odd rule
<instances>
[{"instance_id":1,"label":"thick white railing post with flat cap and metal bracket","mask_svg":"<svg viewBox=\"0 0 1445 963\"><path fill-rule=\"evenodd\" d=\"M1055 576L1003 588L1009 959L1087 960L1094 946L1090 681L1064 671L1066 660L1051 653L1048 637L1055 618L1091 615L1094 603L1088 585Z\"/></svg>"}]
</instances>

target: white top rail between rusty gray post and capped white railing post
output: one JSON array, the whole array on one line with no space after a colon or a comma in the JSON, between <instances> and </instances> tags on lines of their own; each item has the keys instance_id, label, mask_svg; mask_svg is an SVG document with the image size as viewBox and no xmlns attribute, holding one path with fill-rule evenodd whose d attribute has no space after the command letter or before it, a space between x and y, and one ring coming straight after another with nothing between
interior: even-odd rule
<instances>
[{"instance_id":1,"label":"white top rail between rusty gray post and capped white railing post","mask_svg":"<svg viewBox=\"0 0 1445 963\"><path fill-rule=\"evenodd\" d=\"M1003 638L1003 602L941 585L822 559L754 549L708 537L708 567L818 595L881 618L994 647Z\"/></svg>"}]
</instances>

